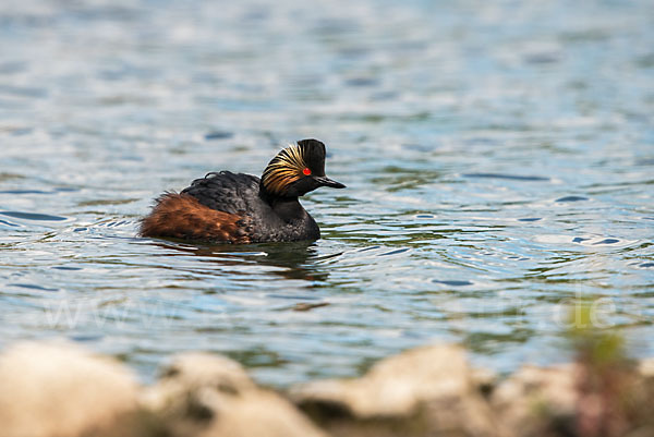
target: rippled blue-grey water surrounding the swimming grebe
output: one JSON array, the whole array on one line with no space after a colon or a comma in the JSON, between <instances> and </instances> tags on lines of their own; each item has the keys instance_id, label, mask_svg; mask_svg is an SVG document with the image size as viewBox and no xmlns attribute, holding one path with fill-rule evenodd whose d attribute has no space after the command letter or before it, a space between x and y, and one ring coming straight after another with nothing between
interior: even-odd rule
<instances>
[{"instance_id":1,"label":"rippled blue-grey water surrounding the swimming grebe","mask_svg":"<svg viewBox=\"0 0 654 437\"><path fill-rule=\"evenodd\" d=\"M8 3L1 344L287 385L457 341L502 372L562 360L592 296L654 354L651 1ZM304 199L323 240L135 238L164 190L303 137L348 185Z\"/></svg>"}]
</instances>

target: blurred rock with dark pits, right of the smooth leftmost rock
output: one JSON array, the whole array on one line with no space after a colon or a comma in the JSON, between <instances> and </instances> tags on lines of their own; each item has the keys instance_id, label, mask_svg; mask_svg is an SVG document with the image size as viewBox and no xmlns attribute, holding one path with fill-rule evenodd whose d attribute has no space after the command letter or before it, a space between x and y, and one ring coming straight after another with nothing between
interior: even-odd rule
<instances>
[{"instance_id":1,"label":"blurred rock with dark pits, right of the smooth leftmost rock","mask_svg":"<svg viewBox=\"0 0 654 437\"><path fill-rule=\"evenodd\" d=\"M142 404L171 436L326 437L289 401L258 388L240 364L209 354L175 357Z\"/></svg>"}]
</instances>

